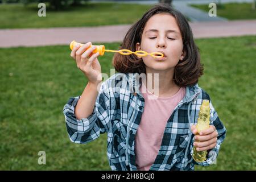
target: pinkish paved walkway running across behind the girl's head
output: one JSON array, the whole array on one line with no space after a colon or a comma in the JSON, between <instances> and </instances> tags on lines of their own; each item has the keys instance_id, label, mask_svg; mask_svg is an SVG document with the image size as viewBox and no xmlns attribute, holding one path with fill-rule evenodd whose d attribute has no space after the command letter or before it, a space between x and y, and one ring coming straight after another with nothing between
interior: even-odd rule
<instances>
[{"instance_id":1,"label":"pinkish paved walkway running across behind the girl's head","mask_svg":"<svg viewBox=\"0 0 256 182\"><path fill-rule=\"evenodd\" d=\"M256 20L192 22L194 38L256 35ZM0 47L67 45L77 42L122 42L128 25L78 28L28 28L0 30Z\"/></svg>"}]
</instances>

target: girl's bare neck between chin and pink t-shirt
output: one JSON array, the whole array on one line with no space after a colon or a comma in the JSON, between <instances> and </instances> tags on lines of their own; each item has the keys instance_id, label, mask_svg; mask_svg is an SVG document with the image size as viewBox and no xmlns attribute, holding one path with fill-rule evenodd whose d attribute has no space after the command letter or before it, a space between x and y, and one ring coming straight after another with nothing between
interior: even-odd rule
<instances>
[{"instance_id":1,"label":"girl's bare neck between chin and pink t-shirt","mask_svg":"<svg viewBox=\"0 0 256 182\"><path fill-rule=\"evenodd\" d=\"M151 74L150 74L151 73ZM173 81L174 69L156 71L146 67L146 80L143 80L149 92L159 97L171 97L180 89Z\"/></svg>"}]
</instances>

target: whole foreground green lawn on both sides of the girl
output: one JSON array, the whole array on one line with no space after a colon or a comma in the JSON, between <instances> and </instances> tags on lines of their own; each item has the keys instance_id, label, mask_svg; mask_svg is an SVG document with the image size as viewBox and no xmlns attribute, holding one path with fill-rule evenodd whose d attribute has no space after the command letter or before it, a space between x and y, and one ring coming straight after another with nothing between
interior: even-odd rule
<instances>
[{"instance_id":1,"label":"whole foreground green lawn on both sides of the girl","mask_svg":"<svg viewBox=\"0 0 256 182\"><path fill-rule=\"evenodd\" d=\"M217 165L196 169L255 170L256 36L196 43L205 68L199 85L228 130ZM106 134L88 144L69 141L63 106L87 83L69 53L68 46L0 49L1 170L110 170ZM99 58L102 73L110 75L112 56ZM38 164L39 151L46 151L46 165Z\"/></svg>"}]
</instances>

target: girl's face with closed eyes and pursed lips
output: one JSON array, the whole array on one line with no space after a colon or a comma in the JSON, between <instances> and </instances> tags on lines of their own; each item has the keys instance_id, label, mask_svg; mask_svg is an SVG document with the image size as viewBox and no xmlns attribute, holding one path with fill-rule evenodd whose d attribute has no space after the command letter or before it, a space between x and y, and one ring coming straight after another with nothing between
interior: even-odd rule
<instances>
[{"instance_id":1,"label":"girl's face with closed eyes and pursed lips","mask_svg":"<svg viewBox=\"0 0 256 182\"><path fill-rule=\"evenodd\" d=\"M148 19L142 33L141 43L136 49L151 52L162 52L164 57L156 59L152 56L142 57L146 67L164 71L174 69L183 59L183 41L176 19L170 14L156 14Z\"/></svg>"}]
</instances>

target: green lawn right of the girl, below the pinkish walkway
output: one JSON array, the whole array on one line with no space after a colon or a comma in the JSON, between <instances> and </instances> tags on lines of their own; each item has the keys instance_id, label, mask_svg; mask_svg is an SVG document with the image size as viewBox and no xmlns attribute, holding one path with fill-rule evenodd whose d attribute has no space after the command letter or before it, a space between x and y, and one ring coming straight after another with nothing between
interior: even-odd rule
<instances>
[{"instance_id":1,"label":"green lawn right of the girl, below the pinkish walkway","mask_svg":"<svg viewBox=\"0 0 256 182\"><path fill-rule=\"evenodd\" d=\"M212 170L256 169L256 36L197 40L207 90L227 137Z\"/></svg>"}]
</instances>

